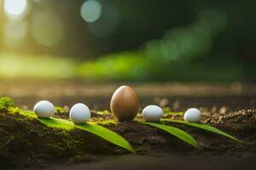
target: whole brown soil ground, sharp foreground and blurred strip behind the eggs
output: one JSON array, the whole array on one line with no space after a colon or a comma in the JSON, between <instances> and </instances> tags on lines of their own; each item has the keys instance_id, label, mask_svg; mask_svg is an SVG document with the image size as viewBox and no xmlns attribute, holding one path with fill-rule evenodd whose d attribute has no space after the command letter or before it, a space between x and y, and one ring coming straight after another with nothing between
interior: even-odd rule
<instances>
[{"instance_id":1,"label":"whole brown soil ground, sharp foreground and blurred strip behind the eggs","mask_svg":"<svg viewBox=\"0 0 256 170\"><path fill-rule=\"evenodd\" d=\"M190 133L200 144L195 150L172 135L138 122L104 124L121 134L137 150L126 150L90 134L73 130L70 133L45 127L20 114L0 111L0 167L46 169L241 169L253 168L256 160L256 88L253 84L164 83L133 84L141 106L157 104L172 111L198 107L202 121L224 130L242 143L200 129L172 124ZM110 120L111 115L96 115L108 110L109 99L119 84L86 85L82 82L44 82L0 84L0 94L15 99L15 105L32 109L39 99L69 107L83 102L93 110L93 121ZM17 88L19 87L19 88ZM56 114L67 118L67 112ZM170 117L170 116L169 116ZM141 116L137 116L138 119ZM181 119L182 116L172 116ZM103 122L102 122L103 123Z\"/></svg>"}]
</instances>

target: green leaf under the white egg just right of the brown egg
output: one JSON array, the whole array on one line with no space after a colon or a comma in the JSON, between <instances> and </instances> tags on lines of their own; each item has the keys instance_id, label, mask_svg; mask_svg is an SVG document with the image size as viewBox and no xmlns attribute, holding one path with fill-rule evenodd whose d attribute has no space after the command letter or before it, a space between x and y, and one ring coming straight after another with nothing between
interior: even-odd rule
<instances>
[{"instance_id":1,"label":"green leaf under the white egg just right of the brown egg","mask_svg":"<svg viewBox=\"0 0 256 170\"><path fill-rule=\"evenodd\" d=\"M198 144L196 140L189 133L186 133L177 127L171 127L171 126L167 126L165 124L160 124L157 122L141 122L141 123L150 125L152 127L160 128L161 130L164 130L167 133L171 133L172 135L176 136L178 139L183 140L184 142L194 146L195 148L198 148Z\"/></svg>"}]
</instances>

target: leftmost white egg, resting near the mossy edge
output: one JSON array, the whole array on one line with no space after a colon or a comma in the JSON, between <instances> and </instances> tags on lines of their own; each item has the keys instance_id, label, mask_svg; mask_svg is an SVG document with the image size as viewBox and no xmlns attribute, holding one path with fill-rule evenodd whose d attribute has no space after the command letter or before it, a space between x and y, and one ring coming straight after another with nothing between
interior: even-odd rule
<instances>
[{"instance_id":1,"label":"leftmost white egg, resting near the mossy edge","mask_svg":"<svg viewBox=\"0 0 256 170\"><path fill-rule=\"evenodd\" d=\"M55 106L47 100L39 101L33 108L38 117L48 118L55 114Z\"/></svg>"}]
</instances>

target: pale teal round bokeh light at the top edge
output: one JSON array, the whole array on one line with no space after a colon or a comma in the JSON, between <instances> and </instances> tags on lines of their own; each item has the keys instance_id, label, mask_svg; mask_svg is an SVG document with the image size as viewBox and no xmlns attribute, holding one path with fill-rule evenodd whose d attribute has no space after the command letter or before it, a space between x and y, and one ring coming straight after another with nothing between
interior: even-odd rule
<instances>
[{"instance_id":1,"label":"pale teal round bokeh light at the top edge","mask_svg":"<svg viewBox=\"0 0 256 170\"><path fill-rule=\"evenodd\" d=\"M80 12L85 21L95 22L102 14L102 5L95 0L88 0L82 4Z\"/></svg>"}]
</instances>

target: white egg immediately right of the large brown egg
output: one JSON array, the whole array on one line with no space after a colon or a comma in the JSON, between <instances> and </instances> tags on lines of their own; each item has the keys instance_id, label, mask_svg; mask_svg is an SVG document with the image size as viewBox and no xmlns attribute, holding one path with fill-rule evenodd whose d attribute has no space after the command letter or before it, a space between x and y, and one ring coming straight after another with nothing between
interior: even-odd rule
<instances>
[{"instance_id":1,"label":"white egg immediately right of the large brown egg","mask_svg":"<svg viewBox=\"0 0 256 170\"><path fill-rule=\"evenodd\" d=\"M158 122L163 116L163 110L157 105L148 105L143 109L143 117L148 122Z\"/></svg>"}]
</instances>

